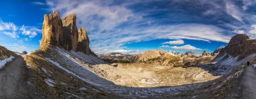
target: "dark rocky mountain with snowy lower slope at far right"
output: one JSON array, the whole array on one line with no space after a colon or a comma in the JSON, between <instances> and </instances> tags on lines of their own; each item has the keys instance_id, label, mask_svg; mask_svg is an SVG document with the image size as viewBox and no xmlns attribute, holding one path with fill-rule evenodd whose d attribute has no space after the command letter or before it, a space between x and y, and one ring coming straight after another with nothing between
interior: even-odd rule
<instances>
[{"instance_id":1,"label":"dark rocky mountain with snowy lower slope at far right","mask_svg":"<svg viewBox=\"0 0 256 99\"><path fill-rule=\"evenodd\" d=\"M250 39L246 34L237 34L230 39L230 42L212 60L234 68L245 64L256 56L256 40Z\"/></svg>"}]
</instances>

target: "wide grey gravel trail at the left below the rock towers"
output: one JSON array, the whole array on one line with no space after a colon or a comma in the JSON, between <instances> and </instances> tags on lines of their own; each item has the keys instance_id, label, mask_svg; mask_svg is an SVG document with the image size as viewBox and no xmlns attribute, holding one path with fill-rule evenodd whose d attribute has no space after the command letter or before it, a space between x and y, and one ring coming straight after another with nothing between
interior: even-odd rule
<instances>
[{"instance_id":1,"label":"wide grey gravel trail at the left below the rock towers","mask_svg":"<svg viewBox=\"0 0 256 99\"><path fill-rule=\"evenodd\" d=\"M32 99L29 71L22 56L17 56L0 69L0 99ZM34 97L35 98L35 97Z\"/></svg>"}]
</instances>

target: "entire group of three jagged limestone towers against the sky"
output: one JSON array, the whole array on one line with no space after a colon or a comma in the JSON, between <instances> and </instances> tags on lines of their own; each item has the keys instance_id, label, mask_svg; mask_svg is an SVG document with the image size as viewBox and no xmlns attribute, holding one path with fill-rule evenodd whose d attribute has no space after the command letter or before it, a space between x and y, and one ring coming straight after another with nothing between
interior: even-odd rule
<instances>
[{"instance_id":1,"label":"entire group of three jagged limestone towers against the sky","mask_svg":"<svg viewBox=\"0 0 256 99\"><path fill-rule=\"evenodd\" d=\"M70 14L63 19L58 11L44 15L43 37L40 41L39 50L46 51L51 45L63 47L75 52L81 51L85 54L95 55L89 48L89 38L84 27L77 29L76 15Z\"/></svg>"}]
</instances>

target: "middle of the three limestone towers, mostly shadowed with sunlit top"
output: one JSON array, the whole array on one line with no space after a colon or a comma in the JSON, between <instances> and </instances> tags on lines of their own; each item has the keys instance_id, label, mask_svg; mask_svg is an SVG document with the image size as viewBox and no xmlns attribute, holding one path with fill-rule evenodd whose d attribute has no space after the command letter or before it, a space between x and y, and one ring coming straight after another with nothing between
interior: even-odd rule
<instances>
[{"instance_id":1,"label":"middle of the three limestone towers, mostly shadowed with sunlit top","mask_svg":"<svg viewBox=\"0 0 256 99\"><path fill-rule=\"evenodd\" d=\"M78 44L78 31L76 27L76 15L70 14L62 19L64 30L64 48L66 50L77 50Z\"/></svg>"}]
</instances>

